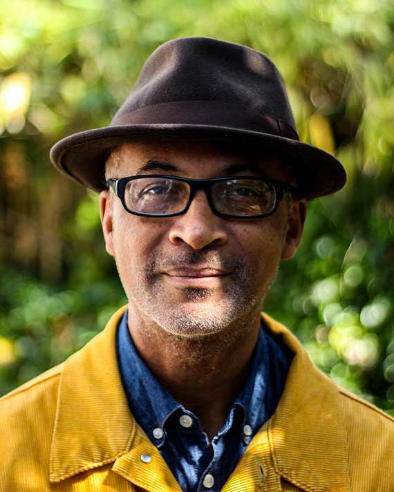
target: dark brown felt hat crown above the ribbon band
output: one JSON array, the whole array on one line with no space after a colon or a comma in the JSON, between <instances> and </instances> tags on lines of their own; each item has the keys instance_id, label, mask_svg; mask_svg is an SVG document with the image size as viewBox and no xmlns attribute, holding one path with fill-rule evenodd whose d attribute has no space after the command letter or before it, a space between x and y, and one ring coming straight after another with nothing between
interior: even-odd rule
<instances>
[{"instance_id":1,"label":"dark brown felt hat crown above the ribbon band","mask_svg":"<svg viewBox=\"0 0 394 492\"><path fill-rule=\"evenodd\" d=\"M111 125L146 106L181 101L243 106L296 131L283 80L272 61L247 46L207 37L173 39L159 46Z\"/></svg>"}]
</instances>

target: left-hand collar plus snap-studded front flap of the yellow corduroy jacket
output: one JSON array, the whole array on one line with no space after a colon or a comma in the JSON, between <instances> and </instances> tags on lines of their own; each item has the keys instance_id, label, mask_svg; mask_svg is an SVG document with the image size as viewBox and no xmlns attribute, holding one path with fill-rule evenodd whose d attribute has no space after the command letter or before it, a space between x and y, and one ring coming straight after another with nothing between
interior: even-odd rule
<instances>
[{"instance_id":1,"label":"left-hand collar plus snap-studded front flap of the yellow corduroy jacket","mask_svg":"<svg viewBox=\"0 0 394 492\"><path fill-rule=\"evenodd\" d=\"M137 486L181 492L160 452L131 415L118 369L115 336L126 306L64 363L60 376L49 480L111 465ZM142 455L151 456L149 467ZM164 484L164 485L163 485Z\"/></svg>"}]
</instances>

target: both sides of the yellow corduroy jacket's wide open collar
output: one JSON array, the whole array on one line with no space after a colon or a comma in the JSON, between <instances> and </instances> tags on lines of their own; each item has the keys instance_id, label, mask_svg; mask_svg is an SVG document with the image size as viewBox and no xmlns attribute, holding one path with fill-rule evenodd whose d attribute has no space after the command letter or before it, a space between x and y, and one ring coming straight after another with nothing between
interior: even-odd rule
<instances>
[{"instance_id":1,"label":"both sides of the yellow corduroy jacket's wide open collar","mask_svg":"<svg viewBox=\"0 0 394 492\"><path fill-rule=\"evenodd\" d=\"M50 452L50 482L115 462L115 471L127 477L134 473L137 483L135 462L139 460L135 457L143 448L155 458L158 477L169 481L172 490L180 490L126 401L115 347L115 332L125 310L118 310L105 330L64 363ZM245 460L251 454L269 454L276 474L296 486L309 491L349 492L344 415L337 386L313 366L287 328L265 314L263 319L294 352L294 358L276 412L248 446Z\"/></svg>"}]
</instances>

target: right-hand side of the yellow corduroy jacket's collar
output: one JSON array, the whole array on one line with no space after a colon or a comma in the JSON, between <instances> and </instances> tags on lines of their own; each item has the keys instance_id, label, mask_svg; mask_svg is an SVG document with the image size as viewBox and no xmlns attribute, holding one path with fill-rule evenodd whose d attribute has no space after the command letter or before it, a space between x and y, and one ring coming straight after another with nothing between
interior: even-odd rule
<instances>
[{"instance_id":1,"label":"right-hand side of the yellow corduroy jacket's collar","mask_svg":"<svg viewBox=\"0 0 394 492\"><path fill-rule=\"evenodd\" d=\"M294 359L274 415L250 448L266 448L276 473L308 491L349 492L344 410L337 386L310 361L296 337L263 314Z\"/></svg>"}]
</instances>

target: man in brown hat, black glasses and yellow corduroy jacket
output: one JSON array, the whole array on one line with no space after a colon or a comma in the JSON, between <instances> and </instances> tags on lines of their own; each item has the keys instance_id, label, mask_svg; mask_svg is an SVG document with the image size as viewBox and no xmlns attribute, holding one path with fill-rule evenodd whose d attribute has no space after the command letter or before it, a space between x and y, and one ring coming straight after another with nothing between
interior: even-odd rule
<instances>
[{"instance_id":1,"label":"man in brown hat, black glasses and yellow corduroy jacket","mask_svg":"<svg viewBox=\"0 0 394 492\"><path fill-rule=\"evenodd\" d=\"M100 192L129 302L1 400L1 491L394 490L393 420L260 314L306 200L346 180L299 142L272 61L169 41L108 128L51 158Z\"/></svg>"}]
</instances>

